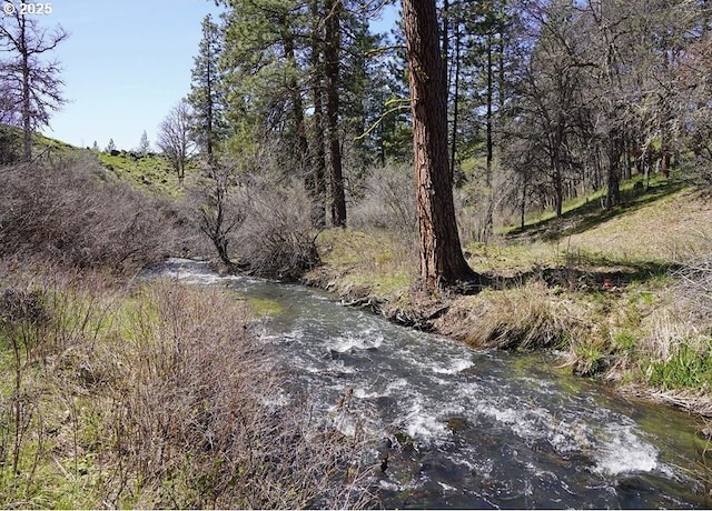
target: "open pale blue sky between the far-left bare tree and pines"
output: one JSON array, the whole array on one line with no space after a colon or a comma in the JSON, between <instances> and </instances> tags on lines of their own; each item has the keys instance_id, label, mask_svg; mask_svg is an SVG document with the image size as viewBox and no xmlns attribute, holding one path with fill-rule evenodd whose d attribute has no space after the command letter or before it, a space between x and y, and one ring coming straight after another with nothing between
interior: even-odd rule
<instances>
[{"instance_id":1,"label":"open pale blue sky between the far-left bare tree and pines","mask_svg":"<svg viewBox=\"0 0 712 511\"><path fill-rule=\"evenodd\" d=\"M17 2L16 2L17 3ZM158 124L190 90L207 0L57 0L42 27L70 32L57 48L68 103L43 132L73 146L155 147Z\"/></svg>"}]
</instances>

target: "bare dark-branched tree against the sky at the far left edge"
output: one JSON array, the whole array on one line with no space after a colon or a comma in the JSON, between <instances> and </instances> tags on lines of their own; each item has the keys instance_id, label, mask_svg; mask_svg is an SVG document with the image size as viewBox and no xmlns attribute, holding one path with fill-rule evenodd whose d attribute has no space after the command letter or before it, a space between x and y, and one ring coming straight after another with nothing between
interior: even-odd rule
<instances>
[{"instance_id":1,"label":"bare dark-branched tree against the sky at the far left edge","mask_svg":"<svg viewBox=\"0 0 712 511\"><path fill-rule=\"evenodd\" d=\"M68 37L61 27L42 29L37 18L19 11L0 18L0 51L7 56L0 62L2 107L21 120L26 161L32 158L32 131L48 126L50 113L65 103L59 63L44 56Z\"/></svg>"}]
</instances>

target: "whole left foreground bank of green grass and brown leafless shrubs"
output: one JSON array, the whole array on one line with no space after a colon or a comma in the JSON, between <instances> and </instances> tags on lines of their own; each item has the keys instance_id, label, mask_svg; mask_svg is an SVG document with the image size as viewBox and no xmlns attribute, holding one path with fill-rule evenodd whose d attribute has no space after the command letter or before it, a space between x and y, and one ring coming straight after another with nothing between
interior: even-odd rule
<instances>
[{"instance_id":1,"label":"whole left foreground bank of green grass and brown leafless shrubs","mask_svg":"<svg viewBox=\"0 0 712 511\"><path fill-rule=\"evenodd\" d=\"M365 505L234 295L86 273L0 259L0 507Z\"/></svg>"}]
</instances>

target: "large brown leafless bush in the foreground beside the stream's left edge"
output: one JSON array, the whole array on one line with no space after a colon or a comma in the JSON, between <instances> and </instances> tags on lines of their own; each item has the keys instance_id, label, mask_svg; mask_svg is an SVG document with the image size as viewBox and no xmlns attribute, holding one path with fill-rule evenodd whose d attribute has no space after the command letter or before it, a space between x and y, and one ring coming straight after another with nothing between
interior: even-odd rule
<instances>
[{"instance_id":1,"label":"large brown leafless bush in the foreground beside the stream's left edge","mask_svg":"<svg viewBox=\"0 0 712 511\"><path fill-rule=\"evenodd\" d=\"M108 501L284 509L359 507L358 443L290 401L245 311L219 290L145 290L117 361ZM138 492L138 493L137 493Z\"/></svg>"}]
</instances>

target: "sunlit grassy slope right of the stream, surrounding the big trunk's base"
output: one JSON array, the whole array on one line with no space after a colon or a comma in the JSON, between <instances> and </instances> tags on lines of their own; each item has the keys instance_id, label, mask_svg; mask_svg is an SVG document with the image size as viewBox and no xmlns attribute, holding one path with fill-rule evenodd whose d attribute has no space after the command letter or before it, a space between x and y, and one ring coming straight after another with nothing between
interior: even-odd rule
<instances>
[{"instance_id":1,"label":"sunlit grassy slope right of the stream, surrounding the big trunk's base","mask_svg":"<svg viewBox=\"0 0 712 511\"><path fill-rule=\"evenodd\" d=\"M602 211L595 198L543 216L468 262L498 289L477 295L414 291L415 249L386 233L329 230L325 267L307 280L396 320L476 347L553 349L553 365L712 414L712 324L690 320L671 270L712 246L712 203L678 182L624 190Z\"/></svg>"}]
</instances>

